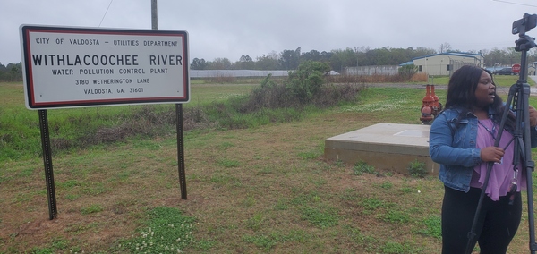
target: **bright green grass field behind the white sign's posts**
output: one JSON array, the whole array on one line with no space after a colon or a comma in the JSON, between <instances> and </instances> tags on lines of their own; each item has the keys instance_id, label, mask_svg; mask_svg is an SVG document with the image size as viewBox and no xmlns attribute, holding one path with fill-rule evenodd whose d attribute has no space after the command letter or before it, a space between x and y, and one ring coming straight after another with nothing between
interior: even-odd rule
<instances>
[{"instance_id":1,"label":"bright green grass field behind the white sign's posts","mask_svg":"<svg viewBox=\"0 0 537 254\"><path fill-rule=\"evenodd\" d=\"M253 85L192 85L192 99L184 108L207 106L226 102L229 98L247 95ZM0 106L0 161L27 159L41 155L38 111L24 106L24 93L20 83L0 83L3 105ZM134 118L144 108L151 111L174 111L175 105L154 106L104 106L47 110L51 140L79 140L95 136L103 127L115 127ZM168 128L173 131L175 127ZM57 150L54 150L57 152Z\"/></svg>"}]
</instances>

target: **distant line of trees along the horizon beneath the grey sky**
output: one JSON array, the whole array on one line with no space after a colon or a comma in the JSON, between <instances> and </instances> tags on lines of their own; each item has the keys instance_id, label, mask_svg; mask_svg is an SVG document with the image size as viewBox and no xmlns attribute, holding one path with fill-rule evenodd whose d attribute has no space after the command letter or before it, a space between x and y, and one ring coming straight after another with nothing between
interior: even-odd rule
<instances>
[{"instance_id":1,"label":"distant line of trees along the horizon beneath the grey sky","mask_svg":"<svg viewBox=\"0 0 537 254\"><path fill-rule=\"evenodd\" d=\"M250 55L242 55L238 61L232 63L227 58L215 58L213 61L206 61L203 58L194 58L191 63L192 70L296 70L300 63L315 61L328 63L330 68L336 72L342 72L345 67L371 66L371 65L398 65L411 61L415 57L424 55L434 55L443 52L461 52L454 50L448 43L442 44L439 50L427 47L407 47L391 48L381 47L371 49L370 47L346 47L345 49L335 49L330 52L310 50L302 52L298 47L294 50L286 49L279 54L276 51L268 55L260 55L255 60ZM511 66L520 63L520 52L516 52L515 47L505 49L493 48L480 51L472 50L472 54L484 56L486 67ZM537 61L535 50L528 52L528 62ZM0 63L0 81L21 81L21 63Z\"/></svg>"}]
</instances>

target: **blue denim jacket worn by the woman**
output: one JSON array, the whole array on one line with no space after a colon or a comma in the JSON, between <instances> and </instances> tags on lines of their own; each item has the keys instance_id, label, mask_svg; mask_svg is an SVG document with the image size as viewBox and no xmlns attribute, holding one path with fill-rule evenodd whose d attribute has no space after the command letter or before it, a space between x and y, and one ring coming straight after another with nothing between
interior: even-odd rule
<instances>
[{"instance_id":1,"label":"blue denim jacket worn by the woman","mask_svg":"<svg viewBox=\"0 0 537 254\"><path fill-rule=\"evenodd\" d=\"M449 188L468 192L473 168L482 163L481 149L475 147L478 120L469 113L456 126L459 112L448 108L435 118L430 126L429 154L432 161L440 165L440 181ZM493 118L495 112L489 110L489 115ZM531 146L535 148L537 130L530 130Z\"/></svg>"}]
</instances>

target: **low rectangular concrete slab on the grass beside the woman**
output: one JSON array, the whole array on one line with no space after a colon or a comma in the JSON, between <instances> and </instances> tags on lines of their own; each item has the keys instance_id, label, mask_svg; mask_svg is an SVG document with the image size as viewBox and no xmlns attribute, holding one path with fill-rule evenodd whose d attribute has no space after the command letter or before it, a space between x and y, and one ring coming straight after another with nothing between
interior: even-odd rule
<instances>
[{"instance_id":1,"label":"low rectangular concrete slab on the grass beside the woman","mask_svg":"<svg viewBox=\"0 0 537 254\"><path fill-rule=\"evenodd\" d=\"M363 161L401 174L408 174L417 159L429 174L438 174L439 165L429 157L429 130L422 124L374 124L325 140L325 158L353 165Z\"/></svg>"}]
</instances>

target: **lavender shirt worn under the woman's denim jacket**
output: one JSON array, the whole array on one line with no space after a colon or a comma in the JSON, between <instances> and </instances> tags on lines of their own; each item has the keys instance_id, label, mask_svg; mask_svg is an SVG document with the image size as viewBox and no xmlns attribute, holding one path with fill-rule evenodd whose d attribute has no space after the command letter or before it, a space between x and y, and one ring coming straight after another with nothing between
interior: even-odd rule
<instances>
[{"instance_id":1,"label":"lavender shirt worn under the woman's denim jacket","mask_svg":"<svg viewBox=\"0 0 537 254\"><path fill-rule=\"evenodd\" d=\"M494 146L494 140L498 136L499 124L493 123L490 119L485 119L479 120L477 126L476 148ZM499 200L499 197L507 196L507 192L509 192L511 183L513 182L515 173L513 170L513 167L515 166L513 165L513 148L515 147L515 142L512 140L513 135L508 131L503 131L501 140L499 141L499 148L504 148L505 154L502 158L502 163L494 164L490 171L489 185L487 186L485 193L489 195L490 199L495 201ZM516 165L516 169L518 170L516 176L516 191L520 191L521 188L525 189L526 187L525 174L519 170L522 165L521 163ZM487 165L488 163L482 162L482 164L476 165L473 168L472 181L470 182L471 187L482 188L487 174Z\"/></svg>"}]
</instances>

